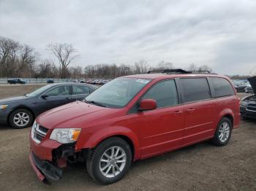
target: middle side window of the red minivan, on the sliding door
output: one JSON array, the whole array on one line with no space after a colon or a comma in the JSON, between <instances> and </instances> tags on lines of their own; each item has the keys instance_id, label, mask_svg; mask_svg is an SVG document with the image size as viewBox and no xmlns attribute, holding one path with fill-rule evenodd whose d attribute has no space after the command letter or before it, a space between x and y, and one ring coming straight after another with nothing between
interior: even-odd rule
<instances>
[{"instance_id":1,"label":"middle side window of the red minivan, on the sliding door","mask_svg":"<svg viewBox=\"0 0 256 191\"><path fill-rule=\"evenodd\" d=\"M180 82L185 103L211 98L206 78L181 78Z\"/></svg>"}]
</instances>

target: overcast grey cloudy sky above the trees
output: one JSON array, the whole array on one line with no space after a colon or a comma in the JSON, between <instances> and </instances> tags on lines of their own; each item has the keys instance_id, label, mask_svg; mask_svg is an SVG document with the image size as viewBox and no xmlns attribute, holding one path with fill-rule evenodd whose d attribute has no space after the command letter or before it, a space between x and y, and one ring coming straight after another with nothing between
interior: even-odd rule
<instances>
[{"instance_id":1,"label":"overcast grey cloudy sky above the trees","mask_svg":"<svg viewBox=\"0 0 256 191\"><path fill-rule=\"evenodd\" d=\"M256 1L0 0L0 36L29 44L41 58L50 58L50 42L72 43L80 54L73 66L145 59L249 74Z\"/></svg>"}]
</instances>

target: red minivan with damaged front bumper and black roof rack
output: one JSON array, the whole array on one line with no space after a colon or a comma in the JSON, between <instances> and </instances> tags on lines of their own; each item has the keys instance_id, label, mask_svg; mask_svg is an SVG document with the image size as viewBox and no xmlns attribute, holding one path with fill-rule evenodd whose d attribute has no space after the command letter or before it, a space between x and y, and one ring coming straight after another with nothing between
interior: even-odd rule
<instances>
[{"instance_id":1,"label":"red minivan with damaged front bumper and black roof rack","mask_svg":"<svg viewBox=\"0 0 256 191\"><path fill-rule=\"evenodd\" d=\"M111 184L132 161L208 139L224 146L239 122L239 98L227 77L151 71L113 79L83 101L39 115L29 159L44 182L79 161L93 179Z\"/></svg>"}]
</instances>

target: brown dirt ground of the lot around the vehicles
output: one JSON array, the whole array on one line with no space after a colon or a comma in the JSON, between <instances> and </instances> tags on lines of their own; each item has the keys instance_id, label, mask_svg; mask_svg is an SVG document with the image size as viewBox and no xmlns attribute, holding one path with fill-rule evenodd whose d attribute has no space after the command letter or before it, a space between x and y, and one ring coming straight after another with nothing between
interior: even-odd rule
<instances>
[{"instance_id":1,"label":"brown dirt ground of the lot around the vehicles","mask_svg":"<svg viewBox=\"0 0 256 191\"><path fill-rule=\"evenodd\" d=\"M1 85L0 98L39 86ZM256 121L242 120L226 147L206 141L141 160L120 182L104 187L89 178L83 164L65 169L51 186L39 182L29 163L29 131L0 128L1 190L256 190Z\"/></svg>"}]
</instances>

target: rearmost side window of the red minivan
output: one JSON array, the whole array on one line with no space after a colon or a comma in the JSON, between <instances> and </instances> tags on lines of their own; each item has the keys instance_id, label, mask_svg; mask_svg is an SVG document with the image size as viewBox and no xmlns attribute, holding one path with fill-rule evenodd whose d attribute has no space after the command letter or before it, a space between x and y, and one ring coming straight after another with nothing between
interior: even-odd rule
<instances>
[{"instance_id":1,"label":"rearmost side window of the red minivan","mask_svg":"<svg viewBox=\"0 0 256 191\"><path fill-rule=\"evenodd\" d=\"M216 98L235 94L232 85L227 79L211 77L211 84L214 86L214 97Z\"/></svg>"}]
</instances>

